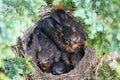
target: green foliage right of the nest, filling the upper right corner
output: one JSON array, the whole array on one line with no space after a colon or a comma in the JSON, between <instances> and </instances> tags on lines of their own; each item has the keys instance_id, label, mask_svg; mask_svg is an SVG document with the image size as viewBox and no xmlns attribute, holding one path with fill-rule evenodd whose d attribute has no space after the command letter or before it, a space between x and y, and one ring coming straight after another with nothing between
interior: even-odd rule
<instances>
[{"instance_id":1,"label":"green foliage right of the nest, filling the upper right corner","mask_svg":"<svg viewBox=\"0 0 120 80\"><path fill-rule=\"evenodd\" d=\"M120 11L118 0L73 0L77 7L75 16L86 24L89 40L98 53L120 51Z\"/></svg>"}]
</instances>

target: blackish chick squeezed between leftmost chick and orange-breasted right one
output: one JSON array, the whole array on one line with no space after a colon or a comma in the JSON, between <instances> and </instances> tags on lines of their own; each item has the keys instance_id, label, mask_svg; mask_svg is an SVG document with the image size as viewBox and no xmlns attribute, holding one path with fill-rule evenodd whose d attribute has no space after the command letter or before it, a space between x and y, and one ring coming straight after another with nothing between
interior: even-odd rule
<instances>
[{"instance_id":1,"label":"blackish chick squeezed between leftmost chick and orange-breasted right one","mask_svg":"<svg viewBox=\"0 0 120 80\"><path fill-rule=\"evenodd\" d=\"M62 27L53 21L51 17L40 20L36 28L47 35L61 51L66 51L62 38Z\"/></svg>"}]
</instances>

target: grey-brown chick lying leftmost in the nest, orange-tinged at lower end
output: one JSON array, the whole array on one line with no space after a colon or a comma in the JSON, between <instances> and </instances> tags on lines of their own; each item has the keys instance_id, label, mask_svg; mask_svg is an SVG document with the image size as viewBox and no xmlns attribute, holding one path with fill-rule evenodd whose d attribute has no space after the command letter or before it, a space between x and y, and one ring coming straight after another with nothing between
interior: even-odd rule
<instances>
[{"instance_id":1,"label":"grey-brown chick lying leftmost in the nest, orange-tinged at lower end","mask_svg":"<svg viewBox=\"0 0 120 80\"><path fill-rule=\"evenodd\" d=\"M49 72L51 64L59 61L61 52L46 35L38 30L35 30L35 34L38 36L39 45L41 46L41 50L36 55L37 64L43 72Z\"/></svg>"}]
</instances>

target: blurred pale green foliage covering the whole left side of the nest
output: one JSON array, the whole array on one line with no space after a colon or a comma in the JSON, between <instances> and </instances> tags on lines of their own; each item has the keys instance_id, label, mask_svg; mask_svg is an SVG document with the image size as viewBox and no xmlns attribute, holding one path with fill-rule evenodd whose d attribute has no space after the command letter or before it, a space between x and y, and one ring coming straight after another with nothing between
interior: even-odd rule
<instances>
[{"instance_id":1,"label":"blurred pale green foliage covering the whole left side of the nest","mask_svg":"<svg viewBox=\"0 0 120 80\"><path fill-rule=\"evenodd\" d=\"M11 80L23 80L18 76L19 73L23 70L28 73L32 69L27 63L28 60L15 58L10 46L38 19L36 13L41 5L46 3L42 0L0 0L0 63L5 63L5 75ZM9 58L10 61L3 62L5 58ZM25 64L27 65L24 66ZM0 71L0 74L0 80L8 80L3 71Z\"/></svg>"}]
</instances>

